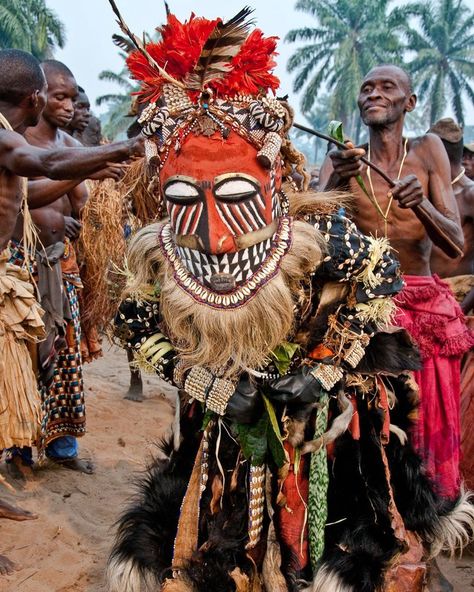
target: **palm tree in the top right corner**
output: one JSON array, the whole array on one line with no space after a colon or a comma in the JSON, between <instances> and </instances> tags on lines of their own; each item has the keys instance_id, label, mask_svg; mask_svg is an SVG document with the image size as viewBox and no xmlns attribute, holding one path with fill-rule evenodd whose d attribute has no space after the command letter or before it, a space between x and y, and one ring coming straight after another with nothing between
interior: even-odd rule
<instances>
[{"instance_id":1,"label":"palm tree in the top right corner","mask_svg":"<svg viewBox=\"0 0 474 592\"><path fill-rule=\"evenodd\" d=\"M474 104L474 13L462 0L439 0L417 6L419 28L408 28L408 49L416 57L408 64L416 87L429 109L430 123L448 103L464 124L463 95Z\"/></svg>"}]
</instances>

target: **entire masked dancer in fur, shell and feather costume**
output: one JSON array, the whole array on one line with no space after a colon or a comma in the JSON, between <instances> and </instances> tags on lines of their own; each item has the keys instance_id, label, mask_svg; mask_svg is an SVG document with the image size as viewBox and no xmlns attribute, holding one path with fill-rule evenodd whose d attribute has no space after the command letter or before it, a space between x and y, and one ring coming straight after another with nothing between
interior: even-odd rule
<instances>
[{"instance_id":1,"label":"entire masked dancer in fur, shell and feather costume","mask_svg":"<svg viewBox=\"0 0 474 592\"><path fill-rule=\"evenodd\" d=\"M343 196L283 190L302 159L267 96L276 40L247 15L169 15L128 58L167 218L131 241L117 334L180 395L110 587L421 591L424 560L465 544L474 512L441 506L407 443L419 356L390 327L388 243Z\"/></svg>"}]
</instances>

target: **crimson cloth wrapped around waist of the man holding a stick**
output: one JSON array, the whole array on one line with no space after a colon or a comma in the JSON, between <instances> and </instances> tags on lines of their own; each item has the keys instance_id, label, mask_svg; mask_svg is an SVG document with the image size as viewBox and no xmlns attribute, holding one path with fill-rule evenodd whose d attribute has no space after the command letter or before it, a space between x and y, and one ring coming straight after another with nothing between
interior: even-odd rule
<instances>
[{"instance_id":1,"label":"crimson cloth wrapped around waist of the man holding a stick","mask_svg":"<svg viewBox=\"0 0 474 592\"><path fill-rule=\"evenodd\" d=\"M412 334L423 356L423 368L415 372L421 408L413 444L440 495L454 498L461 482L461 357L474 345L474 336L451 290L438 276L404 279L396 322Z\"/></svg>"}]
</instances>

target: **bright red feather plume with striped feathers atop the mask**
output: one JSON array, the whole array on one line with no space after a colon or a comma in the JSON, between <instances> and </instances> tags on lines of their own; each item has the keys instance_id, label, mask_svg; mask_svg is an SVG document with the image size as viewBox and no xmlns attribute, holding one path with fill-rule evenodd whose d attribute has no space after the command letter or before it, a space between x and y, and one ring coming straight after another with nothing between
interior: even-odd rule
<instances>
[{"instance_id":1,"label":"bright red feather plume with striped feathers atop the mask","mask_svg":"<svg viewBox=\"0 0 474 592\"><path fill-rule=\"evenodd\" d=\"M134 51L127 59L132 77L141 82L141 99L155 102L160 97L170 82L163 71L193 98L205 89L230 99L275 92L279 80L272 70L278 38L264 37L258 29L248 34L245 19L250 12L244 9L227 23L194 14L182 23L169 14L159 29L161 41L148 43L146 52Z\"/></svg>"}]
</instances>

